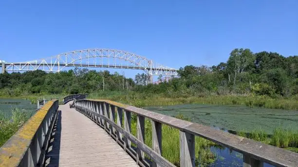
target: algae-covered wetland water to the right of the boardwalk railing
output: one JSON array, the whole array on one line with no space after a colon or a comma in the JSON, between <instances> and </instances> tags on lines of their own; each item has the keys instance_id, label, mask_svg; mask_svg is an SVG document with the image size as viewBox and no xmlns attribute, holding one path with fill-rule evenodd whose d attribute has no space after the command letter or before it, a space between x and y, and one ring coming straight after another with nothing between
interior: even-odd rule
<instances>
[{"instance_id":1,"label":"algae-covered wetland water to the right of the boardwalk railing","mask_svg":"<svg viewBox=\"0 0 298 167\"><path fill-rule=\"evenodd\" d=\"M247 107L243 105L184 104L170 106L150 106L145 109L168 116L182 114L191 122L222 129L229 132L251 132L261 128L272 134L277 127L298 130L298 111ZM229 149L211 147L217 159L210 167L242 167L242 154ZM264 167L273 167L264 164Z\"/></svg>"}]
</instances>

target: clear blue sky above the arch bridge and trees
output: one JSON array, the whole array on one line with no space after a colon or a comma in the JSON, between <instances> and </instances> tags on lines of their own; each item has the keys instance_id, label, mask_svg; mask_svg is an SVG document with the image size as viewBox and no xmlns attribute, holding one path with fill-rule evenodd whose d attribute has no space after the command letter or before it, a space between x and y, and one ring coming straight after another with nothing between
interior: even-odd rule
<instances>
[{"instance_id":1,"label":"clear blue sky above the arch bridge and trees","mask_svg":"<svg viewBox=\"0 0 298 167\"><path fill-rule=\"evenodd\" d=\"M89 48L174 68L217 65L235 48L298 55L298 0L1 0L0 60Z\"/></svg>"}]
</instances>

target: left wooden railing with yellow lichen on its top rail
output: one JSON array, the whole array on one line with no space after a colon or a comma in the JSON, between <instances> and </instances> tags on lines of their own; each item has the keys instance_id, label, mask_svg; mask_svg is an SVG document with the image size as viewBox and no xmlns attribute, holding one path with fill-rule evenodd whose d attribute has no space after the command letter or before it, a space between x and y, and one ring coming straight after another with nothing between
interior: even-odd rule
<instances>
[{"instance_id":1,"label":"left wooden railing with yellow lichen on its top rail","mask_svg":"<svg viewBox=\"0 0 298 167\"><path fill-rule=\"evenodd\" d=\"M43 166L57 109L48 101L0 148L0 167Z\"/></svg>"}]
</instances>

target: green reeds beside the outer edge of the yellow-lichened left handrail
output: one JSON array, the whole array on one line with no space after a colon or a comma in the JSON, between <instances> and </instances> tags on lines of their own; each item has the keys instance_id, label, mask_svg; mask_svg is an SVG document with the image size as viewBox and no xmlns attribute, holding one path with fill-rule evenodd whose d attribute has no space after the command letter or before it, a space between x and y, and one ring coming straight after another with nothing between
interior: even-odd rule
<instances>
[{"instance_id":1,"label":"green reeds beside the outer edge of the yellow-lichened left handrail","mask_svg":"<svg viewBox=\"0 0 298 167\"><path fill-rule=\"evenodd\" d=\"M34 114L12 108L11 113L0 111L0 147Z\"/></svg>"}]
</instances>

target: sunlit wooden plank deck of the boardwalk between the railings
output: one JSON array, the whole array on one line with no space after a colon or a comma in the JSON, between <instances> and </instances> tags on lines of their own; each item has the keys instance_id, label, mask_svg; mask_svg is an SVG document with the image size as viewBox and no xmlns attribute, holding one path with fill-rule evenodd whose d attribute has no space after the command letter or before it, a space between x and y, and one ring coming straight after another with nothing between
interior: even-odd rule
<instances>
[{"instance_id":1,"label":"sunlit wooden plank deck of the boardwalk between the railings","mask_svg":"<svg viewBox=\"0 0 298 167\"><path fill-rule=\"evenodd\" d=\"M136 162L88 117L60 105L45 167L138 167Z\"/></svg>"}]
</instances>

